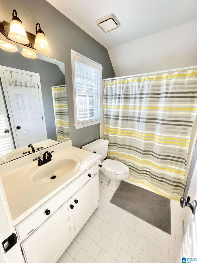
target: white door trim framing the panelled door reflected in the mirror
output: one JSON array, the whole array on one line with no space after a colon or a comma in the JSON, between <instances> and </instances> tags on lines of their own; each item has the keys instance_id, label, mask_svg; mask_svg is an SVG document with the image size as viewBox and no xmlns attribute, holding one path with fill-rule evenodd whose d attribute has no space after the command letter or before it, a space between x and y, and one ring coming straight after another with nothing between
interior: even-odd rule
<instances>
[{"instance_id":1,"label":"white door trim framing the panelled door reflected in the mirror","mask_svg":"<svg viewBox=\"0 0 197 263\"><path fill-rule=\"evenodd\" d=\"M3 74L3 70L14 71L17 73L22 73L22 74L27 74L27 75L34 75L37 77L38 86L39 86L38 93L39 93L40 108L41 108L41 114L42 114L42 118L43 118L44 137L45 137L45 140L47 140L46 122L45 122L44 107L43 107L43 101L42 101L42 90L41 90L41 83L40 83L40 74L35 73L35 72L30 72L30 71L26 71L26 70L21 70L21 69L17 69L17 68L10 68L10 67L0 65L0 78L1 78L1 82L2 82L2 88L3 88L3 92L4 92L4 96L5 96L8 114L10 117L11 129L12 129L12 133L13 133L13 137L14 137L14 143L15 143L16 148L19 148L19 145L18 145L16 130L14 128L14 119L12 116L9 96L8 96L8 92L7 92L7 88L6 88L6 80L5 80L5 77Z\"/></svg>"}]
</instances>

